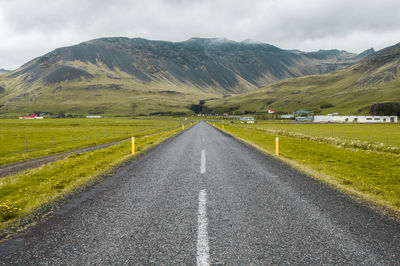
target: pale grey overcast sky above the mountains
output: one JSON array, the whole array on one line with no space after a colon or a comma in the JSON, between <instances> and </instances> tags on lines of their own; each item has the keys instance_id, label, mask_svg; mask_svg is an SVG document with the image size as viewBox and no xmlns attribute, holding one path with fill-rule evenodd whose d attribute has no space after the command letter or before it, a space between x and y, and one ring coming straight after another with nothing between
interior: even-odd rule
<instances>
[{"instance_id":1,"label":"pale grey overcast sky above the mountains","mask_svg":"<svg viewBox=\"0 0 400 266\"><path fill-rule=\"evenodd\" d=\"M399 0L0 0L0 68L99 37L253 39L360 53L400 42Z\"/></svg>"}]
</instances>

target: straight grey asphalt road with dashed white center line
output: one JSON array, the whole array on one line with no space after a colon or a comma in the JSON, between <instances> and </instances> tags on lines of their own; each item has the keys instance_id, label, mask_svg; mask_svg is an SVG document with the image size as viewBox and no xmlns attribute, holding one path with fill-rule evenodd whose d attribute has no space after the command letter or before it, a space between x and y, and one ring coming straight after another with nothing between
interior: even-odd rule
<instances>
[{"instance_id":1,"label":"straight grey asphalt road with dashed white center line","mask_svg":"<svg viewBox=\"0 0 400 266\"><path fill-rule=\"evenodd\" d=\"M400 264L400 224L199 123L0 245L2 264Z\"/></svg>"}]
</instances>

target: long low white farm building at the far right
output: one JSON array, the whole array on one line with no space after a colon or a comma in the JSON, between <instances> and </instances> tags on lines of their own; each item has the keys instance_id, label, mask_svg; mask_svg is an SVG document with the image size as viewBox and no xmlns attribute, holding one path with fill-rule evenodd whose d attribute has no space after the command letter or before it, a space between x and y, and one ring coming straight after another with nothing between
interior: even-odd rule
<instances>
[{"instance_id":1,"label":"long low white farm building at the far right","mask_svg":"<svg viewBox=\"0 0 400 266\"><path fill-rule=\"evenodd\" d=\"M397 116L316 115L315 123L397 123Z\"/></svg>"}]
</instances>

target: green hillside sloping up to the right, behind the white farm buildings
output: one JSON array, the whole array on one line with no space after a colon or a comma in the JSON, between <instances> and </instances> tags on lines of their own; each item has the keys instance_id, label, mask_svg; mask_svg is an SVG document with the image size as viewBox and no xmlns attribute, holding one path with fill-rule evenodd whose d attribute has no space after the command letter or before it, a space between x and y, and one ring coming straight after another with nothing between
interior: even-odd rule
<instances>
[{"instance_id":1,"label":"green hillside sloping up to the right, behind the white farm buildings","mask_svg":"<svg viewBox=\"0 0 400 266\"><path fill-rule=\"evenodd\" d=\"M298 109L316 113L400 115L400 43L324 75L287 79L238 96L207 101L203 112L253 113Z\"/></svg>"}]
</instances>

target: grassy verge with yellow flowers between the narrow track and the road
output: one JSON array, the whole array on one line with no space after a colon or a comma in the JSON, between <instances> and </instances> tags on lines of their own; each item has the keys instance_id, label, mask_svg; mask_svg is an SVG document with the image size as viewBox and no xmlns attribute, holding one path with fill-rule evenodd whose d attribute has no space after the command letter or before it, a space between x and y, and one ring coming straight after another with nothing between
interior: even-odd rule
<instances>
[{"instance_id":1,"label":"grassy verge with yellow flowers between the narrow track and the road","mask_svg":"<svg viewBox=\"0 0 400 266\"><path fill-rule=\"evenodd\" d=\"M182 131L176 128L136 138L136 154ZM132 158L131 143L124 142L93 152L75 154L38 169L0 179L0 230L16 227L46 204L99 180L113 167ZM0 236L1 237L1 236ZM3 235L4 237L4 235Z\"/></svg>"}]
</instances>

